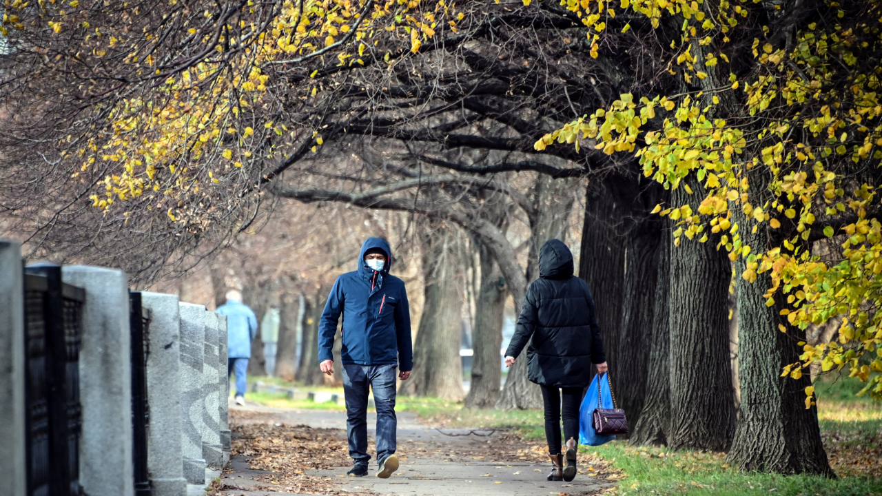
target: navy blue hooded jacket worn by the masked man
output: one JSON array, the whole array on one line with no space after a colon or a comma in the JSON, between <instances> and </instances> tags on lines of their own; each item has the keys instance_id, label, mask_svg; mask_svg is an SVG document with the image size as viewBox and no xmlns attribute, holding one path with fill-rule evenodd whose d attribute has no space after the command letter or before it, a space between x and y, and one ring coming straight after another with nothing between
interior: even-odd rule
<instances>
[{"instance_id":1,"label":"navy blue hooded jacket worn by the masked man","mask_svg":"<svg viewBox=\"0 0 882 496\"><path fill-rule=\"evenodd\" d=\"M383 270L364 263L364 254L379 248L386 254ZM389 274L392 250L385 239L369 237L358 255L358 268L337 277L318 325L318 363L333 360L333 335L343 315L344 364L399 364L401 372L414 367L410 338L410 308L404 282Z\"/></svg>"}]
</instances>

